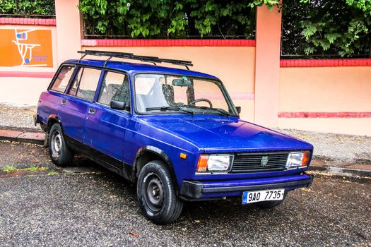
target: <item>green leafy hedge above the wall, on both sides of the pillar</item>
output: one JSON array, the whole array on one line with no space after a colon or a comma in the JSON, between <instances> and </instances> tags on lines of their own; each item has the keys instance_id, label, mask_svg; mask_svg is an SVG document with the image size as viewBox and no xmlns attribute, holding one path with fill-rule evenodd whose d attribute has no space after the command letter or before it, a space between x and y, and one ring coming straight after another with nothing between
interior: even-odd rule
<instances>
[{"instance_id":1,"label":"green leafy hedge above the wall, on both sides of the pillar","mask_svg":"<svg viewBox=\"0 0 371 247\"><path fill-rule=\"evenodd\" d=\"M278 3L278 0L81 0L78 8L83 13L87 35L248 39L254 38L255 7L266 4L272 8ZM370 46L367 44L370 23L371 0L283 1L283 44L287 44L290 54L365 54ZM283 50L284 53L285 47Z\"/></svg>"}]
</instances>

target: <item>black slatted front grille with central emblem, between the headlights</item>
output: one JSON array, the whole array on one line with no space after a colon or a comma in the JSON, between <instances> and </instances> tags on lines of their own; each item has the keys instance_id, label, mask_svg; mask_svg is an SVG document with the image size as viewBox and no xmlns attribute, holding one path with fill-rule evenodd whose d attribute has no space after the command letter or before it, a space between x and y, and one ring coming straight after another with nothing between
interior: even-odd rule
<instances>
[{"instance_id":1,"label":"black slatted front grille with central emblem, between the headlights","mask_svg":"<svg viewBox=\"0 0 371 247\"><path fill-rule=\"evenodd\" d=\"M266 159L266 157L268 157L268 162L262 165L261 159ZM282 171L285 169L287 159L288 152L237 153L235 154L231 172Z\"/></svg>"}]
</instances>

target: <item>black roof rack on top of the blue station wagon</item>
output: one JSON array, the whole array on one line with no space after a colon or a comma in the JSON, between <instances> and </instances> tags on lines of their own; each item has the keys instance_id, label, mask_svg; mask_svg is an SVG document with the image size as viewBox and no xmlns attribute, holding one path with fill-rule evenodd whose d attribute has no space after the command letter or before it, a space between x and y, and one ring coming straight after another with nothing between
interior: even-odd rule
<instances>
[{"instance_id":1,"label":"black roof rack on top of the blue station wagon","mask_svg":"<svg viewBox=\"0 0 371 247\"><path fill-rule=\"evenodd\" d=\"M181 65L181 66L185 66L187 70L189 70L188 66L193 66L192 61L175 60L175 59L160 59L157 56L137 56L132 53L126 53L126 52L105 52L105 51L93 51L93 50L85 50L85 51L77 51L77 52L83 54L83 56L81 56L81 59L78 61L78 63L80 63L85 56L91 55L91 56L109 56L109 58L105 61L105 64L103 64L103 66L106 66L107 62L110 61L114 57L117 57L119 59L134 59L134 60L139 60L143 62L153 63L154 65L157 65L156 63L169 63L169 64Z\"/></svg>"}]
</instances>

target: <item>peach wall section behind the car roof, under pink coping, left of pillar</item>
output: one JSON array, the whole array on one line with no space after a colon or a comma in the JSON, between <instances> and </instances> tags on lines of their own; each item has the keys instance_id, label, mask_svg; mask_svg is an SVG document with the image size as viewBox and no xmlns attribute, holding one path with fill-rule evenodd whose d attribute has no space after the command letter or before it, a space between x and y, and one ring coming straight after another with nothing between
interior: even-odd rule
<instances>
[{"instance_id":1,"label":"peach wall section behind the car roof, under pink coping, left of pillar","mask_svg":"<svg viewBox=\"0 0 371 247\"><path fill-rule=\"evenodd\" d=\"M217 76L233 102L242 107L242 119L254 121L255 47L83 47L115 52L131 52L166 59L190 60L194 71ZM172 66L165 64L165 66ZM179 68L179 66L174 66ZM182 66L182 68L184 68Z\"/></svg>"}]
</instances>

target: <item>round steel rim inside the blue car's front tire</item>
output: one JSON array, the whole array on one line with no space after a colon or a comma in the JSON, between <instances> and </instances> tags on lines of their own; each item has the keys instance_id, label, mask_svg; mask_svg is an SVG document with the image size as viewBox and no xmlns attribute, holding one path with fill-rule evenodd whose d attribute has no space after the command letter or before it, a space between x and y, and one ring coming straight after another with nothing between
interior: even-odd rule
<instances>
[{"instance_id":1,"label":"round steel rim inside the blue car's front tire","mask_svg":"<svg viewBox=\"0 0 371 247\"><path fill-rule=\"evenodd\" d=\"M164 201L164 190L163 182L156 174L151 174L146 179L145 188L145 198L148 207L151 208L153 212L158 212L161 210Z\"/></svg>"}]
</instances>

